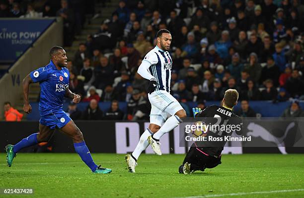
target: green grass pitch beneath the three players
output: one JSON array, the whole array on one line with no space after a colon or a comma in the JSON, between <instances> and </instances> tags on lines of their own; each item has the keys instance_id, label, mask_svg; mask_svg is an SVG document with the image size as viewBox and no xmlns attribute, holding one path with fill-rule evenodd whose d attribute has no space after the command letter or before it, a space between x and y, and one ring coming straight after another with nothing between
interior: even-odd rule
<instances>
[{"instance_id":1,"label":"green grass pitch beneath the three players","mask_svg":"<svg viewBox=\"0 0 304 198\"><path fill-rule=\"evenodd\" d=\"M113 172L92 174L77 154L65 153L19 153L9 168L1 153L0 189L33 188L34 194L0 197L304 198L304 154L223 155L218 167L191 175L178 174L184 155L143 154L136 173L127 172L124 155L92 156Z\"/></svg>"}]
</instances>

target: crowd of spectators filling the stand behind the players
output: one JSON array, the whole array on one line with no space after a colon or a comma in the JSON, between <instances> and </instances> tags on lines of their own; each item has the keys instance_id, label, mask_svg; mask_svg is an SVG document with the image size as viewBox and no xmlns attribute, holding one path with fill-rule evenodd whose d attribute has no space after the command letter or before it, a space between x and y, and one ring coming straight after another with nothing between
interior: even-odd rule
<instances>
[{"instance_id":1,"label":"crowd of spectators filling the stand behind the players","mask_svg":"<svg viewBox=\"0 0 304 198\"><path fill-rule=\"evenodd\" d=\"M70 89L83 101L127 102L127 119L146 119L147 80L136 71L165 28L173 38L171 94L185 109L220 101L229 88L247 102L302 100L303 19L301 0L120 0L69 57Z\"/></svg>"}]
</instances>

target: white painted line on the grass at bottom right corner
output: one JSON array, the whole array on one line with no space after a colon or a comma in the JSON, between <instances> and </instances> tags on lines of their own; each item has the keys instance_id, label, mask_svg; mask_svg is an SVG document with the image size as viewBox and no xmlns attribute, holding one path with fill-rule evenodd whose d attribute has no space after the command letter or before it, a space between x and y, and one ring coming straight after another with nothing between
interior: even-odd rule
<instances>
[{"instance_id":1,"label":"white painted line on the grass at bottom right corner","mask_svg":"<svg viewBox=\"0 0 304 198\"><path fill-rule=\"evenodd\" d=\"M192 197L183 197L183 198L217 198L217 197L254 195L254 194L289 193L296 191L304 191L304 189L292 189L292 190L280 190L280 191L256 191L249 193L230 193L230 194L205 195L205 196L202 195L202 196L192 196Z\"/></svg>"}]
</instances>

